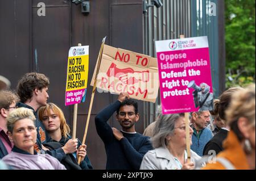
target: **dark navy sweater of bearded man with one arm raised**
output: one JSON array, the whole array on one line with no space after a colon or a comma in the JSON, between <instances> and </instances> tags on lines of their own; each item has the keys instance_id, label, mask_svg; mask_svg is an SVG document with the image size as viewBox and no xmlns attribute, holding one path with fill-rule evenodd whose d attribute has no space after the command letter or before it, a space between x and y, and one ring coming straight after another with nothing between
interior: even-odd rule
<instances>
[{"instance_id":1,"label":"dark navy sweater of bearded man with one arm raised","mask_svg":"<svg viewBox=\"0 0 256 181\"><path fill-rule=\"evenodd\" d=\"M124 138L120 141L114 137L112 128L107 121L120 105L121 103L117 100L104 108L95 117L97 133L105 144L107 156L106 169L139 170L144 154L153 148L149 137L139 133L122 132Z\"/></svg>"}]
</instances>

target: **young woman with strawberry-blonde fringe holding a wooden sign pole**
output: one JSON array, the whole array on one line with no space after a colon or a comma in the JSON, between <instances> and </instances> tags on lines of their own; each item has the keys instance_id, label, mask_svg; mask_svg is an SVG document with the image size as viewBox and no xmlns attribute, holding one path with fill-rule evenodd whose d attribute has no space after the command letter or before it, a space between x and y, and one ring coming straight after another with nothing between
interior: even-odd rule
<instances>
[{"instance_id":1,"label":"young woman with strawberry-blonde fringe holding a wooden sign pole","mask_svg":"<svg viewBox=\"0 0 256 181\"><path fill-rule=\"evenodd\" d=\"M39 119L44 124L46 131L52 138L51 141L60 142L65 145L72 137L69 135L70 128L65 120L63 111L53 103L47 103L46 106L38 110ZM88 155L86 154L86 145L82 145L78 140L78 150L73 153L73 157L81 157L80 167L83 170L93 169Z\"/></svg>"}]
</instances>

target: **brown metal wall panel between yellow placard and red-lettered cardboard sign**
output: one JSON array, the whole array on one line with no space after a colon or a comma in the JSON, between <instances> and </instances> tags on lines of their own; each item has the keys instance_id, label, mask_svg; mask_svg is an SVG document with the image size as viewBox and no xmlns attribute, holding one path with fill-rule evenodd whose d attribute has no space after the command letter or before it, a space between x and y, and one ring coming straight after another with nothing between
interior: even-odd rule
<instances>
[{"instance_id":1,"label":"brown metal wall panel between yellow placard and red-lettered cardboard sign","mask_svg":"<svg viewBox=\"0 0 256 181\"><path fill-rule=\"evenodd\" d=\"M88 15L83 15L81 13L81 5L76 6L75 4L72 4L71 10L71 46L76 46L78 43L81 43L82 45L89 45L87 94L85 103L81 103L78 106L79 115L77 118L77 137L82 141L88 116L90 98L92 95L92 86L90 86L90 81L96 65L101 40L105 36L107 36L106 44L109 44L110 40L109 1L90 1L90 13ZM85 141L85 144L87 145L87 153L94 169L106 168L105 148L102 140L96 132L94 117L108 104L110 104L110 94L100 94L96 91L92 107L92 115L90 116L88 133ZM73 120L71 120L71 123L72 122Z\"/></svg>"}]
</instances>

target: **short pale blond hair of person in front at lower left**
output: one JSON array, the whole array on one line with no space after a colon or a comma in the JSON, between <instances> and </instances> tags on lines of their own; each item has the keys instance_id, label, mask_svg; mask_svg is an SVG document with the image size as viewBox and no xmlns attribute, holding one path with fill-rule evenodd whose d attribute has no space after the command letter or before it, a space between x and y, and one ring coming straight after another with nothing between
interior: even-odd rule
<instances>
[{"instance_id":1,"label":"short pale blond hair of person in front at lower left","mask_svg":"<svg viewBox=\"0 0 256 181\"><path fill-rule=\"evenodd\" d=\"M34 112L28 108L20 107L17 108L14 111L11 111L9 115L7 116L7 129L9 132L13 133L14 124L16 121L22 120L22 119L30 119L33 121L35 125L36 117L34 115Z\"/></svg>"}]
</instances>

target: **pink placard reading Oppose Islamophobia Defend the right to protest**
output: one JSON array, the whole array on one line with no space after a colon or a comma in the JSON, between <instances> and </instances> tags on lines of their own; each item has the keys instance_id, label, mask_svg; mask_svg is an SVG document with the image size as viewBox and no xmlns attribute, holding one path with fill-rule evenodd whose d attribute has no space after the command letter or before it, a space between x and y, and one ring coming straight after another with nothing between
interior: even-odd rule
<instances>
[{"instance_id":1,"label":"pink placard reading Oppose Islamophobia Defend the right to protest","mask_svg":"<svg viewBox=\"0 0 256 181\"><path fill-rule=\"evenodd\" d=\"M163 114L212 110L207 36L156 41Z\"/></svg>"}]
</instances>

